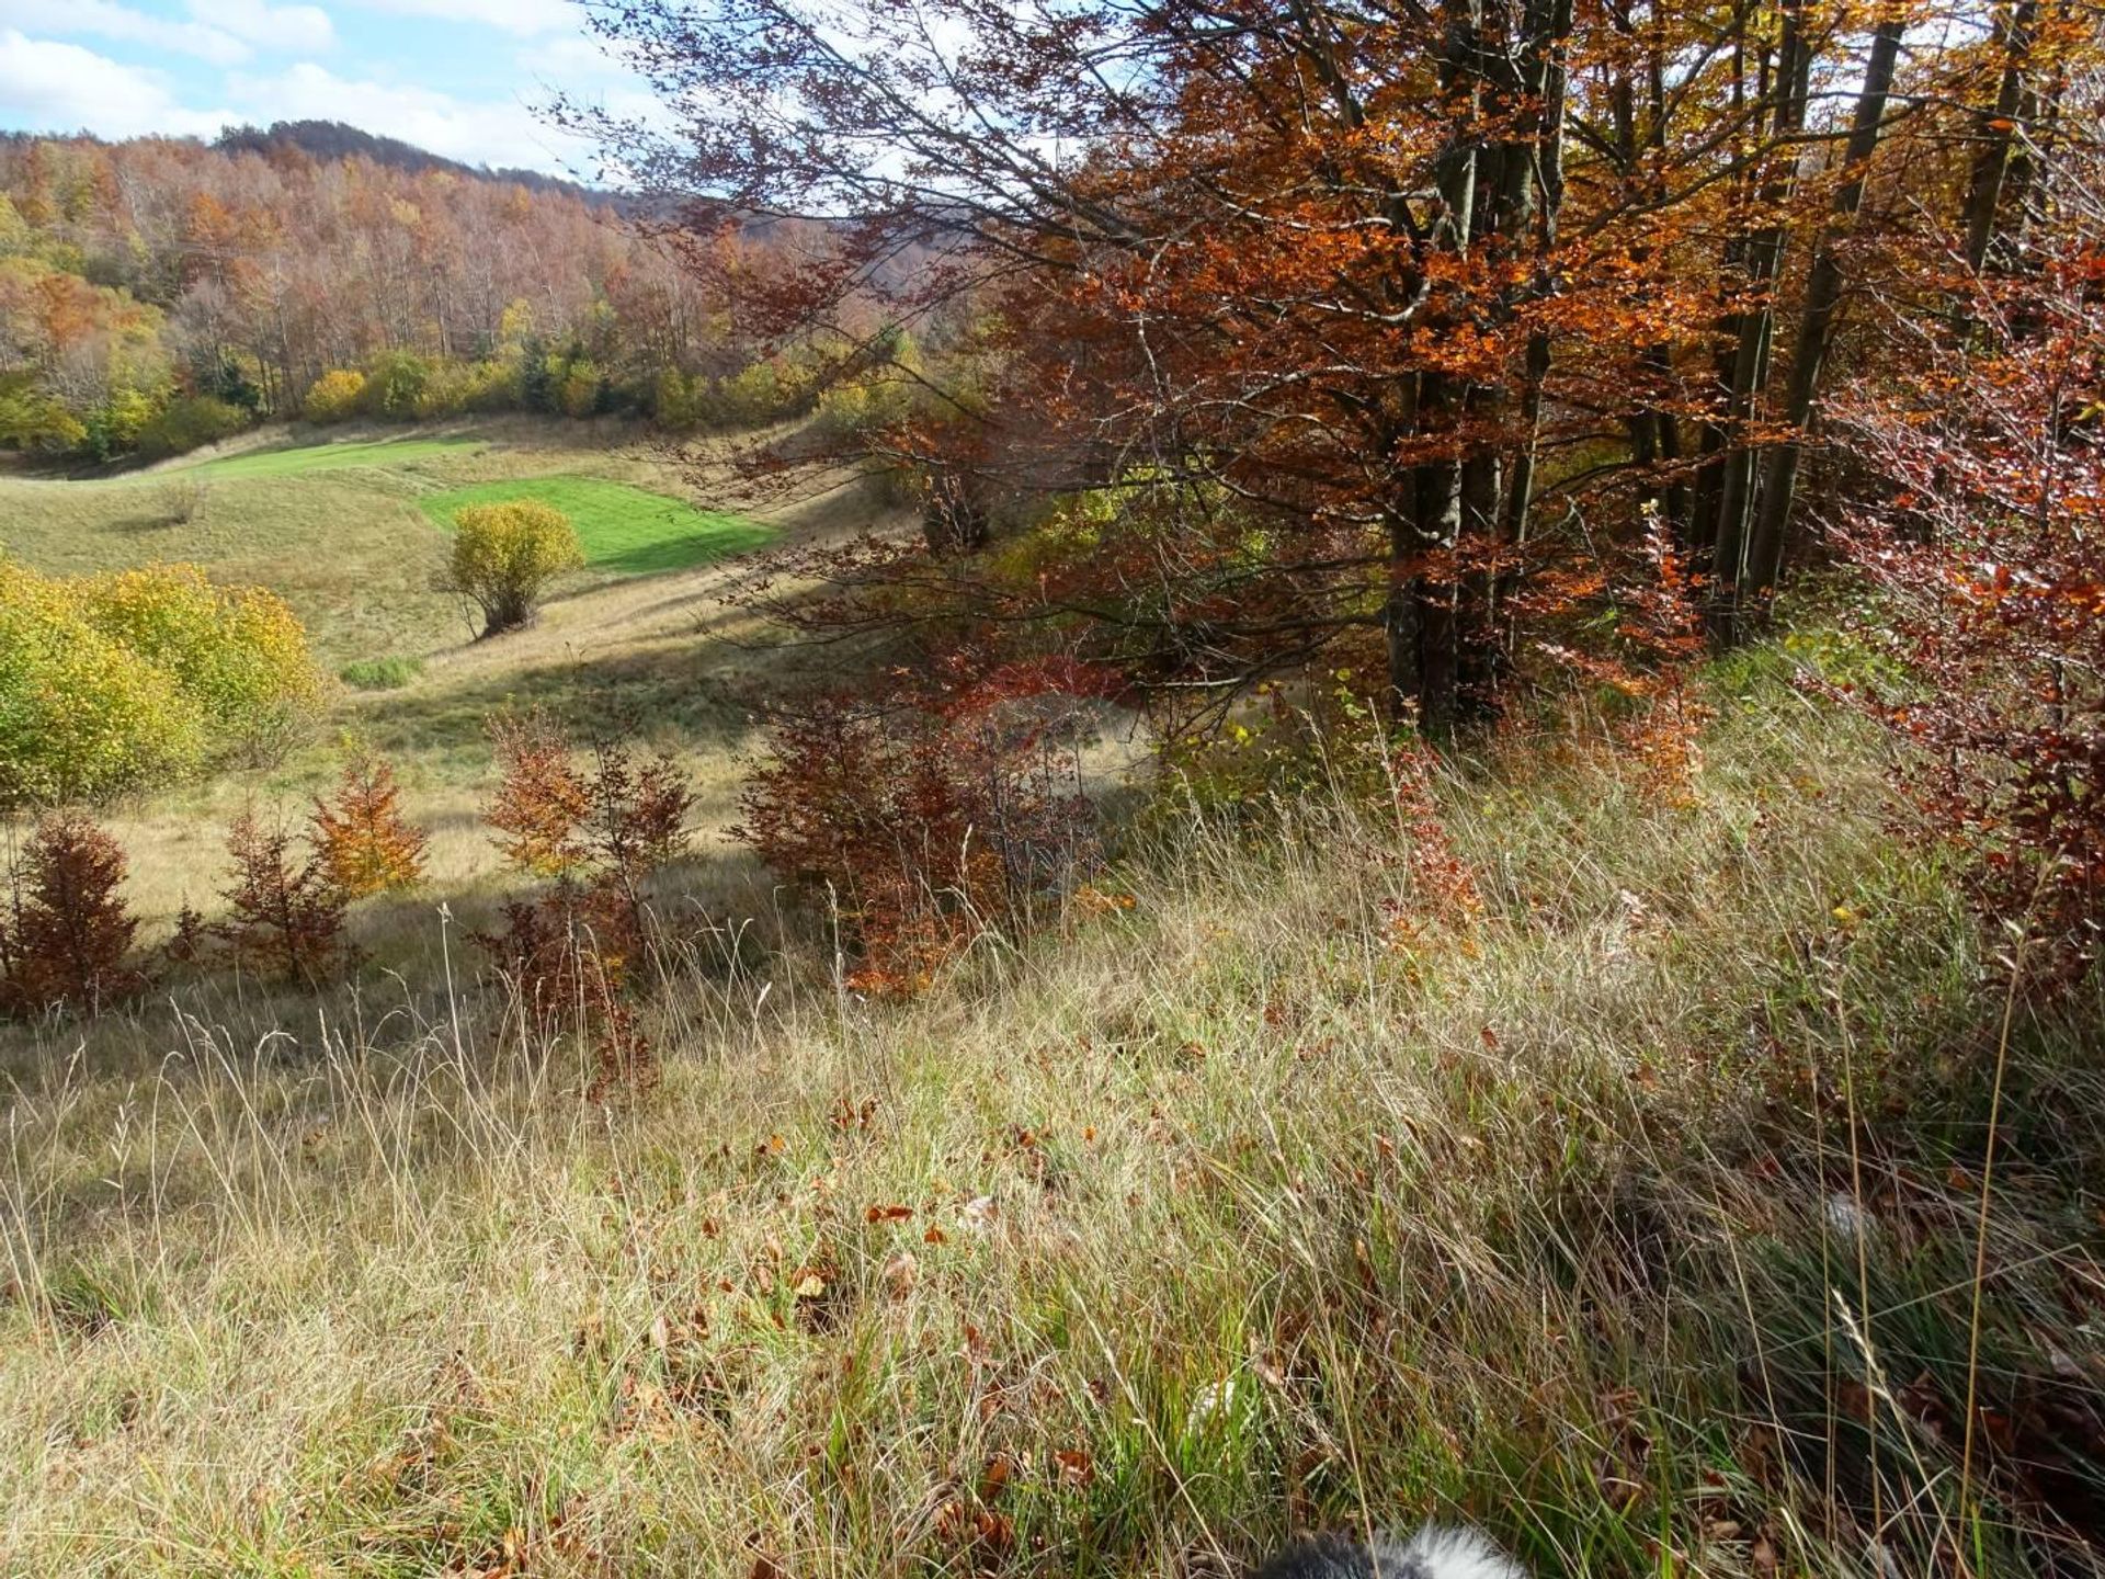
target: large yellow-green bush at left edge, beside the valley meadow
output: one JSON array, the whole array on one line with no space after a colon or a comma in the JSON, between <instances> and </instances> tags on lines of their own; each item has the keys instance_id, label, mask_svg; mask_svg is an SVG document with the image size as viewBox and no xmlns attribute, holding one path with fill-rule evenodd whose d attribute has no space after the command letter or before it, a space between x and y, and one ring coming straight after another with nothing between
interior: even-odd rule
<instances>
[{"instance_id":1,"label":"large yellow-green bush at left edge, beside the valley meadow","mask_svg":"<svg viewBox=\"0 0 2105 1579\"><path fill-rule=\"evenodd\" d=\"M320 709L284 600L194 564L44 577L0 560L0 806L267 760Z\"/></svg>"}]
</instances>

